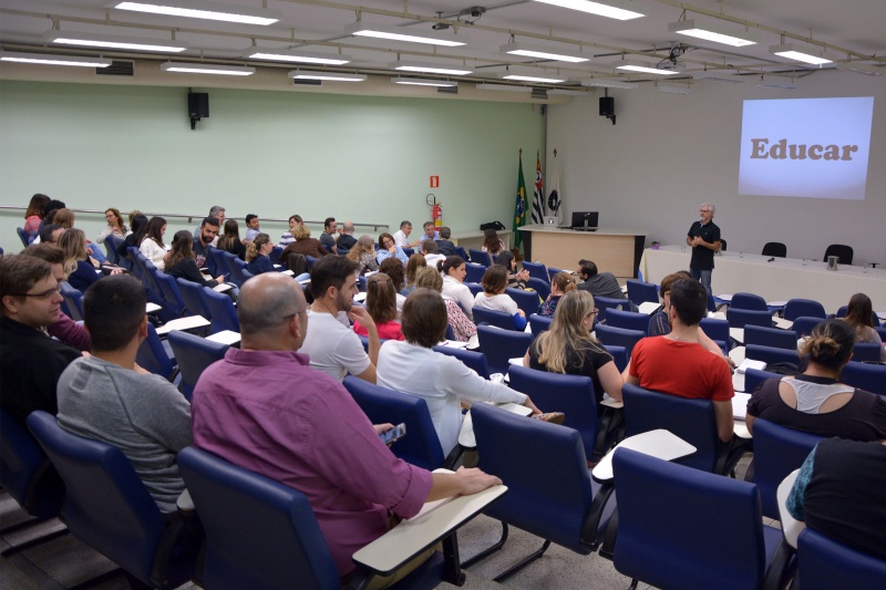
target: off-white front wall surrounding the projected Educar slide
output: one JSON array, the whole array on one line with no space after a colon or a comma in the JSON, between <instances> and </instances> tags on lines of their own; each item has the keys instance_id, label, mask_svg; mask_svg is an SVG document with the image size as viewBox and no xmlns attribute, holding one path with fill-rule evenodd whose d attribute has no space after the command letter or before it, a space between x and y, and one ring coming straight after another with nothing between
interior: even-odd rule
<instances>
[{"instance_id":1,"label":"off-white front wall surrounding the projected Educar slide","mask_svg":"<svg viewBox=\"0 0 886 590\"><path fill-rule=\"evenodd\" d=\"M815 72L793 91L703 83L689 95L609 91L617 124L595 100L548 107L548 173L558 152L560 195L571 210L599 210L600 224L647 229L647 244L681 242L699 205L717 205L729 250L787 245L792 258L820 258L828 244L855 249L855 263L886 263L886 82ZM867 195L863 201L738 194L742 101L874 96Z\"/></svg>"}]
</instances>

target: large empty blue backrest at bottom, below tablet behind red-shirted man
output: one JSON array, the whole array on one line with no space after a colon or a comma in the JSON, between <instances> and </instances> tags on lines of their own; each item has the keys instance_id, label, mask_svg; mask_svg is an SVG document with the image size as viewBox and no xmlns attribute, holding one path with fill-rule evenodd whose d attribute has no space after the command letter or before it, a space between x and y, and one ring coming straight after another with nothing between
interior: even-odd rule
<instances>
[{"instance_id":1,"label":"large empty blue backrest at bottom, below tablet behind red-shirted man","mask_svg":"<svg viewBox=\"0 0 886 590\"><path fill-rule=\"evenodd\" d=\"M766 551L756 486L628 448L616 449L612 472L618 571L659 588L721 588L724 580L729 588L762 588Z\"/></svg>"}]
</instances>

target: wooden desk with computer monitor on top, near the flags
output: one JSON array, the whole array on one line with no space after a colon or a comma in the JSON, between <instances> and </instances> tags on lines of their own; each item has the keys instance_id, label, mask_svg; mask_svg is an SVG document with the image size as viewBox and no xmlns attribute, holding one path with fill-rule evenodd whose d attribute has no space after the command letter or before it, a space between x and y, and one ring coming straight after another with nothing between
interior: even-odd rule
<instances>
[{"instance_id":1,"label":"wooden desk with computer monitor on top, near the flags","mask_svg":"<svg viewBox=\"0 0 886 590\"><path fill-rule=\"evenodd\" d=\"M523 226L526 260L540 260L549 267L573 271L583 258L593 260L600 271L616 277L636 277L646 241L646 231L599 228L576 231L543 225Z\"/></svg>"}]
</instances>

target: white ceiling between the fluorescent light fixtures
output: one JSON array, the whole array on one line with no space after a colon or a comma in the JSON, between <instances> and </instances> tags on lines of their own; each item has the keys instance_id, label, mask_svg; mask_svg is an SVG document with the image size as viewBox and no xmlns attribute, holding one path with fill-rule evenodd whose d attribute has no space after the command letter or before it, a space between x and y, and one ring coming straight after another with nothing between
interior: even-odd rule
<instances>
[{"instance_id":1,"label":"white ceiling between the fluorescent light fixtures","mask_svg":"<svg viewBox=\"0 0 886 590\"><path fill-rule=\"evenodd\" d=\"M803 66L769 53L770 45L801 38L826 44L842 61L874 60L886 70L886 0L697 0L692 4L676 0L642 0L649 8L645 18L617 21L558 8L532 0L497 1L477 4L485 8L478 19L460 12L473 6L470 0L266 0L268 9L279 11L282 19L270 27L229 24L207 20L155 17L106 9L110 0L2 0L0 3L0 44L9 51L43 51L99 55L92 50L64 50L47 46L42 34L53 28L62 31L156 38L187 41L190 49L173 58L175 61L243 64L240 54L253 44L269 48L305 46L315 51L350 54L353 61L333 71L393 73L389 63L403 60L467 65L470 80L497 81L507 66L534 70L537 73L568 77L569 85L591 75L612 77L611 62L628 58L647 58L652 62L667 59L673 42L684 43L687 51L681 76L701 70L724 69L738 73L793 72L801 77L817 68ZM227 0L250 8L261 8L261 0ZM668 32L668 23L687 18L722 13L730 20L745 21L759 29L762 42L746 48L730 48L682 38ZM430 31L434 22L455 25L457 35L466 35L466 46L437 49L415 43L398 43L349 37L343 28L361 19L373 23ZM722 11L722 12L721 12ZM437 13L441 17L437 17ZM464 21L473 21L473 23ZM452 29L451 29L452 30ZM594 55L584 64L534 63L530 59L501 53L499 45L509 41L545 44L559 49L579 48ZM168 60L165 55L103 52L104 56ZM292 69L292 64L250 62L250 65ZM834 64L830 64L833 66ZM303 68L303 66L302 66ZM827 66L826 66L827 68ZM171 74L174 75L174 74ZM424 76L427 77L427 76ZM627 76L621 76L627 77ZM650 75L630 77L646 81ZM673 76L671 76L673 79ZM884 79L886 80L886 79Z\"/></svg>"}]
</instances>

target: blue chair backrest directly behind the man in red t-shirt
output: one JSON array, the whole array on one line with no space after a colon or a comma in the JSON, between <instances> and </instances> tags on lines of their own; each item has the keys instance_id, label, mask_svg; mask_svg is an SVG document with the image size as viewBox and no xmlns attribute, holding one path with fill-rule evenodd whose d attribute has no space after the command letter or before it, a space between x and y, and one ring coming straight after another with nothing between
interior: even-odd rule
<instances>
[{"instance_id":1,"label":"blue chair backrest directly behind the man in red t-shirt","mask_svg":"<svg viewBox=\"0 0 886 590\"><path fill-rule=\"evenodd\" d=\"M677 397L630 383L621 386L621 395L626 436L664 428L698 449L679 463L704 472L714 470L720 438L710 400Z\"/></svg>"}]
</instances>

